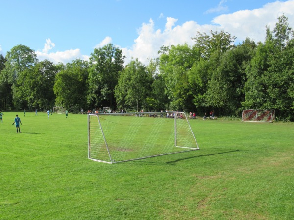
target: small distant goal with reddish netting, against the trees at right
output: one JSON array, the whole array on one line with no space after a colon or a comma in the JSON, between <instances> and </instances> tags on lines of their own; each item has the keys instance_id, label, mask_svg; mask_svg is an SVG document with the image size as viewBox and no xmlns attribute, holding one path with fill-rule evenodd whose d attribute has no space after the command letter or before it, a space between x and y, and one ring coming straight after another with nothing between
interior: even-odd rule
<instances>
[{"instance_id":1,"label":"small distant goal with reddish netting, against the trees at right","mask_svg":"<svg viewBox=\"0 0 294 220\"><path fill-rule=\"evenodd\" d=\"M273 122L274 110L243 110L242 121L245 122Z\"/></svg>"}]
</instances>

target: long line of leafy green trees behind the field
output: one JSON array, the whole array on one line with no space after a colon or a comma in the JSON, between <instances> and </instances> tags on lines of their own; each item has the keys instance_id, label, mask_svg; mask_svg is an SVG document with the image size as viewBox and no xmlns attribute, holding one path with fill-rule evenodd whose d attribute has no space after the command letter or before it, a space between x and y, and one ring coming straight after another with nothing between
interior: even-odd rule
<instances>
[{"instance_id":1,"label":"long line of leafy green trees behind the field","mask_svg":"<svg viewBox=\"0 0 294 220\"><path fill-rule=\"evenodd\" d=\"M244 109L274 109L277 120L294 121L294 30L287 17L266 27L264 43L246 38L235 45L224 31L192 39L192 46L162 46L147 65L136 58L125 66L113 44L67 64L39 61L17 45L0 55L0 110L214 110L240 117Z\"/></svg>"}]
</instances>

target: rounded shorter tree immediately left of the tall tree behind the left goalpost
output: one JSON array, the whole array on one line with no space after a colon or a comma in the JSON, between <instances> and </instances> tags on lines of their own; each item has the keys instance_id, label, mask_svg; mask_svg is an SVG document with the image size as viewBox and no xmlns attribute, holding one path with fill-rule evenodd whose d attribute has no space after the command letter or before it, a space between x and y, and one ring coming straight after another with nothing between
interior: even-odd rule
<instances>
[{"instance_id":1,"label":"rounded shorter tree immediately left of the tall tree behind the left goalpost","mask_svg":"<svg viewBox=\"0 0 294 220\"><path fill-rule=\"evenodd\" d=\"M75 112L80 108L87 108L88 69L87 61L76 59L57 73L54 84L56 105Z\"/></svg>"}]
</instances>

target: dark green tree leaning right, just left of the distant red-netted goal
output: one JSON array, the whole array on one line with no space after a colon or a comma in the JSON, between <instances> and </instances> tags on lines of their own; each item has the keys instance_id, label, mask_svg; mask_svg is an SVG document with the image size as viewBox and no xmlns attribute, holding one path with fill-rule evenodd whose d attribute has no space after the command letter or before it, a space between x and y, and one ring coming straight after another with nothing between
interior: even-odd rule
<instances>
[{"instance_id":1,"label":"dark green tree leaning right, just left of the distant red-netted goal","mask_svg":"<svg viewBox=\"0 0 294 220\"><path fill-rule=\"evenodd\" d=\"M245 70L254 56L255 48L254 41L247 38L221 56L220 64L208 82L207 106L220 109L221 115L240 114L241 103L245 100Z\"/></svg>"}]
</instances>

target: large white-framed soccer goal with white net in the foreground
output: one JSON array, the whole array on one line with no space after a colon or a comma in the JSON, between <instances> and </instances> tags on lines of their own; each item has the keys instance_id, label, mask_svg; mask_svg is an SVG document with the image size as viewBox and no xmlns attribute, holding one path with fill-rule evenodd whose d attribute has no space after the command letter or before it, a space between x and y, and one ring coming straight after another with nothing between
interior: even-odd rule
<instances>
[{"instance_id":1,"label":"large white-framed soccer goal with white net in the foreground","mask_svg":"<svg viewBox=\"0 0 294 220\"><path fill-rule=\"evenodd\" d=\"M198 150L184 112L88 114L88 158L118 163Z\"/></svg>"}]
</instances>

